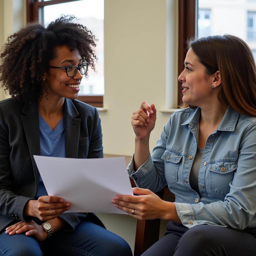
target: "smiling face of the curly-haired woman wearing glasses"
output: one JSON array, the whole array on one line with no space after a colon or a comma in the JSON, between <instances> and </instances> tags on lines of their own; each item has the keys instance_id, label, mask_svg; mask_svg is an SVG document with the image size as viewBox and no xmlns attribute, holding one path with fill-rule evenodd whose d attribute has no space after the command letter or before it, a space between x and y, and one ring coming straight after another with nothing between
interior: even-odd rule
<instances>
[{"instance_id":1,"label":"smiling face of the curly-haired woman wearing glasses","mask_svg":"<svg viewBox=\"0 0 256 256\"><path fill-rule=\"evenodd\" d=\"M78 49L71 49L68 45L56 48L56 58L49 61L49 66L67 67L69 65L79 66L82 64L82 57ZM68 77L65 69L48 68L44 73L45 82L49 95L47 98L60 99L62 97L68 99L76 99L80 90L82 75L77 70L73 77ZM44 90L43 90L44 92Z\"/></svg>"}]
</instances>

